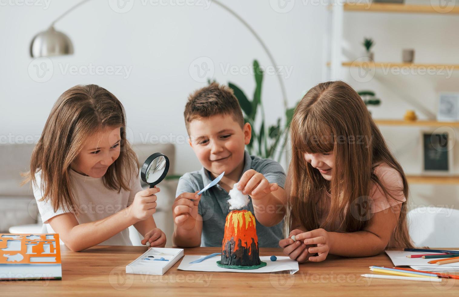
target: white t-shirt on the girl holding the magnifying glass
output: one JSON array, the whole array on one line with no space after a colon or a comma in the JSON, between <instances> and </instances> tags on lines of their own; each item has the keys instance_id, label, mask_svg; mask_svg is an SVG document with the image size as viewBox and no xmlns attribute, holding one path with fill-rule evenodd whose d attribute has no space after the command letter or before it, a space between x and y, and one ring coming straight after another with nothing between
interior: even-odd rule
<instances>
[{"instance_id":1,"label":"white t-shirt on the girl holding the magnifying glass","mask_svg":"<svg viewBox=\"0 0 459 297\"><path fill-rule=\"evenodd\" d=\"M32 188L34 190L35 199L37 200L41 219L43 223L45 223L49 233L56 233L51 228L48 220L62 213L66 213L68 210L67 208L65 210L59 208L55 212L49 200L39 201L43 197L40 191L41 171L35 174L35 178L38 188L34 185L32 185ZM123 210L132 204L135 194L142 190L139 176L131 179L131 183L129 184L130 191L124 191L122 189L119 193L116 190L107 189L103 184L102 177L87 177L72 169L70 169L70 181L73 185L72 194L75 199L74 202L77 205L77 211L79 213L78 216L75 215L75 218L79 224L98 221ZM129 230L127 228L124 229L120 233L101 242L100 245L132 246L132 242L129 239Z\"/></svg>"}]
</instances>

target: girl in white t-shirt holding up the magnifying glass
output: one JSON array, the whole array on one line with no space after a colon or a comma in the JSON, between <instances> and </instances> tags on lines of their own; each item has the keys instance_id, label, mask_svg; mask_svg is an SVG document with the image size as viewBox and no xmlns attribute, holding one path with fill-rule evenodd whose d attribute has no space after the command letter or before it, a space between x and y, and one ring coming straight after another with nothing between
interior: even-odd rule
<instances>
[{"instance_id":1,"label":"girl in white t-shirt holding up the magnifying glass","mask_svg":"<svg viewBox=\"0 0 459 297\"><path fill-rule=\"evenodd\" d=\"M159 188L142 190L138 173L121 102L100 86L74 86L54 104L24 183L32 183L47 231L72 251L132 245L131 225L142 244L163 247L152 217Z\"/></svg>"}]
</instances>

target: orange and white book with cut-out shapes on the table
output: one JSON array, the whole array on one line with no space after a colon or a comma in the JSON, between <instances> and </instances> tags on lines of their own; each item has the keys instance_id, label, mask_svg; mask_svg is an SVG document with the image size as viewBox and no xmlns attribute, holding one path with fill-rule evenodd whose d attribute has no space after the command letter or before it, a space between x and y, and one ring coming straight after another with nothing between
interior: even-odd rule
<instances>
[{"instance_id":1,"label":"orange and white book with cut-out shapes on the table","mask_svg":"<svg viewBox=\"0 0 459 297\"><path fill-rule=\"evenodd\" d=\"M0 234L0 280L62 279L59 234Z\"/></svg>"}]
</instances>

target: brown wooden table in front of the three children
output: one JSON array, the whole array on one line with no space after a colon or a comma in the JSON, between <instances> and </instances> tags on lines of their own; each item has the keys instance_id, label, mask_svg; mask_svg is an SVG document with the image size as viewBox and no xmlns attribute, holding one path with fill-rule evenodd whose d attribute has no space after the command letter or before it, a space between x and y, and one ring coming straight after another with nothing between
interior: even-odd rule
<instances>
[{"instance_id":1,"label":"brown wooden table in front of the three children","mask_svg":"<svg viewBox=\"0 0 459 297\"><path fill-rule=\"evenodd\" d=\"M181 259L164 275L125 274L144 246L95 246L73 252L62 246L62 280L0 281L0 296L459 296L459 280L441 283L367 279L368 266L391 266L386 254L364 258L329 256L300 264L300 271L271 274L182 271ZM208 255L217 247L185 249ZM283 256L280 248L261 248L260 256Z\"/></svg>"}]
</instances>

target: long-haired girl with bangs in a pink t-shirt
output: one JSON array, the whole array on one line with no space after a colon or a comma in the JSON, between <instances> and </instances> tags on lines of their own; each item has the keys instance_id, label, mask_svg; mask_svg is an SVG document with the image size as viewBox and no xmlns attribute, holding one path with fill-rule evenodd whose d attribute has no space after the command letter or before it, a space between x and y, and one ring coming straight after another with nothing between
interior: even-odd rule
<instances>
[{"instance_id":1,"label":"long-haired girl with bangs in a pink t-shirt","mask_svg":"<svg viewBox=\"0 0 459 297\"><path fill-rule=\"evenodd\" d=\"M314 86L295 109L290 129L291 232L279 242L286 255L319 262L329 253L368 257L386 247L412 247L407 179L351 86Z\"/></svg>"}]
</instances>

